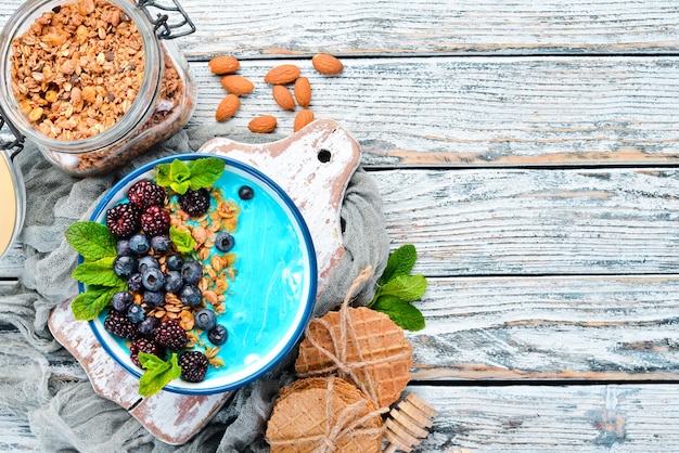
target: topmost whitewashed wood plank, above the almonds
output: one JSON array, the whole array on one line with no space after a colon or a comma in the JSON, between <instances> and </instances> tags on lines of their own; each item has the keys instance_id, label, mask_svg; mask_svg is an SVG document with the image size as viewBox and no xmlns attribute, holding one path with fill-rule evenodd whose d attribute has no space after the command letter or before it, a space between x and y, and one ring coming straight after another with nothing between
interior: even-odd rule
<instances>
[{"instance_id":1,"label":"topmost whitewashed wood plank, above the almonds","mask_svg":"<svg viewBox=\"0 0 679 453\"><path fill-rule=\"evenodd\" d=\"M22 0L3 0L0 24ZM374 54L662 53L677 51L679 9L668 0L184 0L193 57Z\"/></svg>"}]
</instances>

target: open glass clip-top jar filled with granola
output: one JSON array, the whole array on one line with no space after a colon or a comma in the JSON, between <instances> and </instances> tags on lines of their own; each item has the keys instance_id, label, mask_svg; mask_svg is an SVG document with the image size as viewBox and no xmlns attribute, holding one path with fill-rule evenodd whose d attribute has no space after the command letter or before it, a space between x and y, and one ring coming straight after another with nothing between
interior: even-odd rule
<instances>
[{"instance_id":1,"label":"open glass clip-top jar filled with granola","mask_svg":"<svg viewBox=\"0 0 679 453\"><path fill-rule=\"evenodd\" d=\"M175 4L26 1L0 36L4 119L79 177L120 167L175 134L196 96L187 61L164 39L195 29ZM154 20L150 7L164 14ZM182 20L169 24L168 10Z\"/></svg>"}]
</instances>

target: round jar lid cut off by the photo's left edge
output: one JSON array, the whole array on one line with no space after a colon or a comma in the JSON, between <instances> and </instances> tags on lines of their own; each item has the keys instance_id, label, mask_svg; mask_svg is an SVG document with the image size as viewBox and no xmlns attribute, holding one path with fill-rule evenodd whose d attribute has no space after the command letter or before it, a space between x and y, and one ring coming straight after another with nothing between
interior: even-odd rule
<instances>
[{"instance_id":1,"label":"round jar lid cut off by the photo's left edge","mask_svg":"<svg viewBox=\"0 0 679 453\"><path fill-rule=\"evenodd\" d=\"M10 157L0 151L0 257L2 257L24 223L24 183Z\"/></svg>"}]
</instances>

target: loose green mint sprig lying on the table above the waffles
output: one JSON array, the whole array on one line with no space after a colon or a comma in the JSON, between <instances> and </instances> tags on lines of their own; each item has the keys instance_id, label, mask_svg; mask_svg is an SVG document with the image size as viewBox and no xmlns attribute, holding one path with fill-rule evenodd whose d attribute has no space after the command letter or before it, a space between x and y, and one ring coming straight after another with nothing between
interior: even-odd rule
<instances>
[{"instance_id":1,"label":"loose green mint sprig lying on the table above the waffles","mask_svg":"<svg viewBox=\"0 0 679 453\"><path fill-rule=\"evenodd\" d=\"M407 331L424 328L422 312L411 302L420 299L426 290L424 275L411 275L418 254L415 247L406 244L392 254L377 281L377 290L369 308L385 313L398 326Z\"/></svg>"}]
</instances>

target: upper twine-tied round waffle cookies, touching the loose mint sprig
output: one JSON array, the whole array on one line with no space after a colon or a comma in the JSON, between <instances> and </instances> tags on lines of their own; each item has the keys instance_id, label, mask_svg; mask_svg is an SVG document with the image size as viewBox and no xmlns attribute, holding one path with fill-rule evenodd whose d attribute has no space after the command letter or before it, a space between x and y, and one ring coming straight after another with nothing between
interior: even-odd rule
<instances>
[{"instance_id":1,"label":"upper twine-tied round waffle cookies, touching the loose mint sprig","mask_svg":"<svg viewBox=\"0 0 679 453\"><path fill-rule=\"evenodd\" d=\"M336 374L368 394L377 407L399 399L410 381L412 347L389 316L343 307L311 320L299 345L302 377Z\"/></svg>"}]
</instances>

